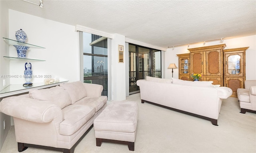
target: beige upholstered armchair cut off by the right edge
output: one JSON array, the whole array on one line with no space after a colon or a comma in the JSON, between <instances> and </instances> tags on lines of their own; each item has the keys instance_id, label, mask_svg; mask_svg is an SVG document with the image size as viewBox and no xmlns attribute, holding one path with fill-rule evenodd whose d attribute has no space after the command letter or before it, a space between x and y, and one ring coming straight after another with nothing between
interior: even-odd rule
<instances>
[{"instance_id":1,"label":"beige upholstered armchair cut off by the right edge","mask_svg":"<svg viewBox=\"0 0 256 153\"><path fill-rule=\"evenodd\" d=\"M240 102L241 112L256 113L256 80L244 81L245 88L237 89L237 97Z\"/></svg>"}]
</instances>

